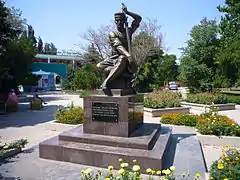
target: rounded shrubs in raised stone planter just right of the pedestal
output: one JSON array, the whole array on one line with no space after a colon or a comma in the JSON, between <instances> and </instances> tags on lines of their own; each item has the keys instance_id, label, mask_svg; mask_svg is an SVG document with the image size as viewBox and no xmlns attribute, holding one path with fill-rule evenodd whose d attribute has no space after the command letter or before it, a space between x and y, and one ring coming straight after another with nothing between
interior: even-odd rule
<instances>
[{"instance_id":1,"label":"rounded shrubs in raised stone planter just right of the pedestal","mask_svg":"<svg viewBox=\"0 0 240 180\"><path fill-rule=\"evenodd\" d=\"M148 108L180 107L181 95L168 90L154 91L146 95L144 106Z\"/></svg>"}]
</instances>

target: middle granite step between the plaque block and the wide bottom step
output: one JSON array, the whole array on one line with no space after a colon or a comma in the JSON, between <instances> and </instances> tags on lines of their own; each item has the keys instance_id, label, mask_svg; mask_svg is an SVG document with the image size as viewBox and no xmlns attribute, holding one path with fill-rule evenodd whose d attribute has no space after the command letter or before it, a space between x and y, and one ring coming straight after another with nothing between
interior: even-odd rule
<instances>
[{"instance_id":1,"label":"middle granite step between the plaque block and the wide bottom step","mask_svg":"<svg viewBox=\"0 0 240 180\"><path fill-rule=\"evenodd\" d=\"M115 136L84 134L83 127L79 126L72 129L71 131L60 134L59 140L104 146L151 150L153 145L155 144L156 139L159 136L160 127L160 124L158 126L154 126L154 129L152 129L153 127L151 126L142 126L131 135L131 138L122 138Z\"/></svg>"}]
</instances>

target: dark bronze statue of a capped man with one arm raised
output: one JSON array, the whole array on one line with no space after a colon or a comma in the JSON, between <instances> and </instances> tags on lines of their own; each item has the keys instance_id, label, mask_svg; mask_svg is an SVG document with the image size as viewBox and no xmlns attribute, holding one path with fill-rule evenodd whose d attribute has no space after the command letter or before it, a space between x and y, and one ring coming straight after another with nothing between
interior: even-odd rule
<instances>
[{"instance_id":1,"label":"dark bronze statue of a capped man with one arm raised","mask_svg":"<svg viewBox=\"0 0 240 180\"><path fill-rule=\"evenodd\" d=\"M129 46L132 34L139 27L142 18L135 13L129 12L126 6L123 6L122 11L114 14L117 29L109 34L112 55L97 64L98 68L109 72L101 85L103 90L130 88L131 80L137 70L137 65L131 56ZM127 25L126 15L134 19L131 27Z\"/></svg>"}]
</instances>

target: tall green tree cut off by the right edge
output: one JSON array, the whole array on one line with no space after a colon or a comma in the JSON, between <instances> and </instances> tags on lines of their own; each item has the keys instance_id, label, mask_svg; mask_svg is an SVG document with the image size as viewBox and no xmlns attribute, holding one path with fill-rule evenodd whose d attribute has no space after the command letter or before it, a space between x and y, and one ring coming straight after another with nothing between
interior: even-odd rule
<instances>
[{"instance_id":1,"label":"tall green tree cut off by the right edge","mask_svg":"<svg viewBox=\"0 0 240 180\"><path fill-rule=\"evenodd\" d=\"M226 0L224 6L217 8L224 15L219 24L221 46L216 59L222 76L234 85L240 79L240 3Z\"/></svg>"}]
</instances>

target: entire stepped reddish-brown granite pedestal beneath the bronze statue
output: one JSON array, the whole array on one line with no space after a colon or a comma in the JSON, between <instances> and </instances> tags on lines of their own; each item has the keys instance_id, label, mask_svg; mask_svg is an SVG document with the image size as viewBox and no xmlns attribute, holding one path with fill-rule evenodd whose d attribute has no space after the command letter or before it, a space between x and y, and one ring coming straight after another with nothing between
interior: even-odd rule
<instances>
[{"instance_id":1,"label":"entire stepped reddish-brown granite pedestal beneath the bronze statue","mask_svg":"<svg viewBox=\"0 0 240 180\"><path fill-rule=\"evenodd\" d=\"M120 168L119 158L130 165L137 159L142 173L162 170L171 130L143 123L142 94L109 92L84 98L83 125L41 142L39 156L102 168Z\"/></svg>"}]
</instances>

